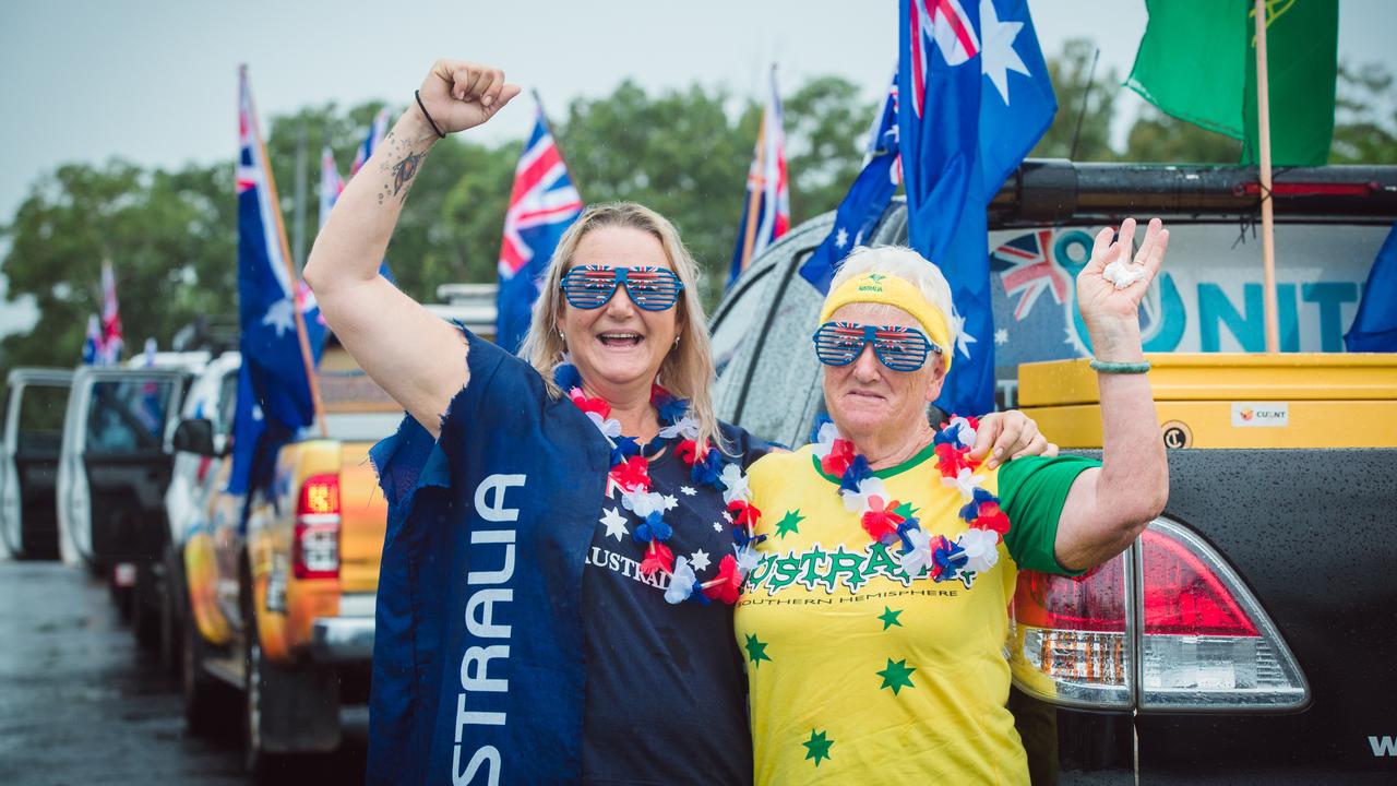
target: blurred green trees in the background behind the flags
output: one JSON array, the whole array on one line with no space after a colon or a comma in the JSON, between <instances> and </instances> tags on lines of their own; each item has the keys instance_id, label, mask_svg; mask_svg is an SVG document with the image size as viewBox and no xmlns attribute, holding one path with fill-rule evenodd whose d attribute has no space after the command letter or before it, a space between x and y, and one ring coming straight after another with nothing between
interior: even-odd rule
<instances>
[{"instance_id":1,"label":"blurred green trees in the background behind the flags","mask_svg":"<svg viewBox=\"0 0 1397 786\"><path fill-rule=\"evenodd\" d=\"M1058 94L1053 126L1031 157L1077 161L1234 164L1241 144L1147 106L1123 150L1112 147L1122 76L1092 74L1095 46L1069 41L1048 67ZM1397 164L1393 76L1377 64L1338 73L1331 164ZM784 98L792 224L833 210L862 165L873 102L840 76L816 77ZM291 231L296 145L307 166L328 144L348 162L383 103L307 106L272 117L268 157ZM402 110L402 106L395 108ZM647 92L624 81L609 95L573 101L553 116L574 183L587 201L634 200L668 215L705 271L705 299L721 296L736 239L746 171L760 120L754 101L700 84ZM412 187L388 246L398 285L436 301L436 287L493 281L514 165L524 140L486 144L469 134L437 144ZM233 152L233 151L231 151ZM316 171L307 172L317 180ZM306 218L314 232L314 194ZM0 369L78 361L87 317L101 310L99 269L117 274L129 351L148 337L169 347L200 315L236 315L233 162L166 171L115 158L74 162L39 178L3 227L0 262L10 298L39 310L27 333L0 340ZM3 306L0 306L3 308Z\"/></svg>"}]
</instances>

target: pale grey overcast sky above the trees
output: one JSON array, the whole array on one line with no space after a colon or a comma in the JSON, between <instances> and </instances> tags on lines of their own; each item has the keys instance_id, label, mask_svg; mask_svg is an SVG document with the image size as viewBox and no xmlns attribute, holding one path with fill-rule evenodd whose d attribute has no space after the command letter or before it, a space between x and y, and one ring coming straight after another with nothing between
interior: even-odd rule
<instances>
[{"instance_id":1,"label":"pale grey overcast sky above the trees","mask_svg":"<svg viewBox=\"0 0 1397 786\"><path fill-rule=\"evenodd\" d=\"M553 113L627 77L647 88L697 80L756 97L771 62L782 85L834 73L865 85L872 101L897 48L895 0L0 0L0 222L61 162L232 159L239 63L250 69L265 123L330 101L402 105L439 56L499 66ZM1030 8L1045 55L1087 36L1101 48L1099 73L1129 73L1144 0L1032 0ZM1394 32L1397 3L1343 0L1341 59L1397 71ZM1120 97L1123 127L1141 102L1130 91ZM529 120L528 101L517 101L481 133L522 137ZM21 312L0 303L0 331Z\"/></svg>"}]
</instances>

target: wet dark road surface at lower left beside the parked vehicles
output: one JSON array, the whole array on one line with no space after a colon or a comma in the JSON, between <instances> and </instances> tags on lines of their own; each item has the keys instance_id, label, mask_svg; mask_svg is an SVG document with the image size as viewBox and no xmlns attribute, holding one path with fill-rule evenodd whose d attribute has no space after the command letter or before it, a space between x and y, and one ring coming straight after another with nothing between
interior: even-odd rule
<instances>
[{"instance_id":1,"label":"wet dark road surface at lower left beside the parked vehicles","mask_svg":"<svg viewBox=\"0 0 1397 786\"><path fill-rule=\"evenodd\" d=\"M0 783L246 785L237 694L222 733L184 730L179 681L141 650L106 587L54 562L0 561ZM346 713L349 716L351 713ZM362 783L366 715L342 750L279 783Z\"/></svg>"}]
</instances>

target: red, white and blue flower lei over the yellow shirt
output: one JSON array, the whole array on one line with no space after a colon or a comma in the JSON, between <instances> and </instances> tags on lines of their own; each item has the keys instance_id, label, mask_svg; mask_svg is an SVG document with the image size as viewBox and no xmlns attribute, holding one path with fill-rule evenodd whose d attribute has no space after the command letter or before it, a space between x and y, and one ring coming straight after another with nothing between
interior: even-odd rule
<instances>
[{"instance_id":1,"label":"red, white and blue flower lei over the yellow shirt","mask_svg":"<svg viewBox=\"0 0 1397 786\"><path fill-rule=\"evenodd\" d=\"M981 488L985 476L975 474L979 462L970 457L970 450L978 425L977 418L953 417L932 439L942 484L960 491L965 501L960 517L970 527L954 540L923 531L912 505L888 495L868 459L854 452L854 442L841 438L833 422L816 427L814 455L826 474L840 478L844 508L858 513L859 523L875 541L901 544L900 561L908 578L916 579L925 569L933 580L946 582L968 571L983 573L999 561L999 543L1009 531L1009 516L1000 509L999 498Z\"/></svg>"}]
</instances>

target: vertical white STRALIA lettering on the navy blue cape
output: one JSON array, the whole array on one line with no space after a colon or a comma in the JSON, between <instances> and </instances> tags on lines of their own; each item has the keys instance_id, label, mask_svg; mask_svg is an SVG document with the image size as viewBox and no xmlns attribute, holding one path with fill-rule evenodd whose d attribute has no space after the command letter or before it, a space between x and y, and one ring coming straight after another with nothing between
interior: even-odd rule
<instances>
[{"instance_id":1,"label":"vertical white STRALIA lettering on the navy blue cape","mask_svg":"<svg viewBox=\"0 0 1397 786\"><path fill-rule=\"evenodd\" d=\"M489 523L513 523L518 520L517 508L504 506L504 491L510 487L522 487L527 476L521 474L493 474L481 481L475 488L475 510L481 519ZM490 492L495 494L490 494ZM471 754L471 759L461 772L461 738L467 726L504 726L506 713L482 712L467 709L467 694L507 694L509 678L492 678L489 676L490 662L503 657L506 664L510 657L510 627L495 624L495 604L511 603L514 590L509 582L514 578L514 529L479 529L471 533L471 571L465 583L472 587L471 596L465 601L465 629L471 638L499 639L504 643L489 646L469 646L461 656L461 692L455 696L455 747L451 751L451 780L453 783L471 783L482 765L488 766L488 783L495 786L500 782L500 751L495 745L481 745ZM502 562L497 571L482 569L483 565L493 565L492 554L502 550ZM478 587L478 589L476 589Z\"/></svg>"}]
</instances>

